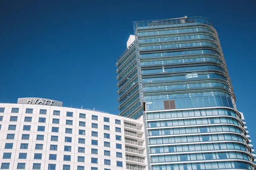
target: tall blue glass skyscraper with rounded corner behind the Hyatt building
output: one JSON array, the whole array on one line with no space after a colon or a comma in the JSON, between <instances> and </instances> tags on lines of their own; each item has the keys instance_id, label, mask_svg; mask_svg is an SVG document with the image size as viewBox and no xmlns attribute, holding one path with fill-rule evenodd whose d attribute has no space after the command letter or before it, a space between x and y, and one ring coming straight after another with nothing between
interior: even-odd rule
<instances>
[{"instance_id":1,"label":"tall blue glass skyscraper with rounded corner behind the Hyatt building","mask_svg":"<svg viewBox=\"0 0 256 170\"><path fill-rule=\"evenodd\" d=\"M116 66L119 115L144 117L147 169L256 169L210 20L134 22Z\"/></svg>"}]
</instances>

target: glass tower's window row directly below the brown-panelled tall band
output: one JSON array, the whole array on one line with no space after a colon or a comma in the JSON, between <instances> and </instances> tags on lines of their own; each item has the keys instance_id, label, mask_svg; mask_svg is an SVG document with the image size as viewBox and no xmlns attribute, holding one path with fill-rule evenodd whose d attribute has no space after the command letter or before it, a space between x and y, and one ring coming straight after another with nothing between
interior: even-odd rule
<instances>
[{"instance_id":1,"label":"glass tower's window row directly below the brown-panelled tall band","mask_svg":"<svg viewBox=\"0 0 256 170\"><path fill-rule=\"evenodd\" d=\"M182 118L182 117L198 117L198 116L218 116L227 115L239 118L235 111L229 109L200 109L189 111L167 111L167 112L154 112L147 113L147 119L169 119L169 118Z\"/></svg>"}]
</instances>

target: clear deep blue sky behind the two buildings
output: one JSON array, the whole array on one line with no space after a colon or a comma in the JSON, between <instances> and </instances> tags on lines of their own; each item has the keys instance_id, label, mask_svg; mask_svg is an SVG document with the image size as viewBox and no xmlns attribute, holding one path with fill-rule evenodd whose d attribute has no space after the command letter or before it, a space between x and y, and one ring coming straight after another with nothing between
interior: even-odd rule
<instances>
[{"instance_id":1,"label":"clear deep blue sky behind the two buildings","mask_svg":"<svg viewBox=\"0 0 256 170\"><path fill-rule=\"evenodd\" d=\"M256 144L255 0L1 0L0 102L44 97L118 114L116 66L133 21L207 17Z\"/></svg>"}]
</instances>

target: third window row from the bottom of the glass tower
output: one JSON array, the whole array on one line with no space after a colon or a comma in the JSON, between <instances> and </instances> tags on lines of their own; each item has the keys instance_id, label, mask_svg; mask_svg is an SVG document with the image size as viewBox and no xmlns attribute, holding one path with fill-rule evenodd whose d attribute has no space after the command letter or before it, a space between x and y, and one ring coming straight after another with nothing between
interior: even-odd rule
<instances>
[{"instance_id":1,"label":"third window row from the bottom of the glass tower","mask_svg":"<svg viewBox=\"0 0 256 170\"><path fill-rule=\"evenodd\" d=\"M248 147L244 144L232 142L215 143L215 144L184 144L174 146L157 146L150 147L150 153L174 153L174 152L192 152L192 151L209 151L209 150L243 150L250 153Z\"/></svg>"}]
</instances>

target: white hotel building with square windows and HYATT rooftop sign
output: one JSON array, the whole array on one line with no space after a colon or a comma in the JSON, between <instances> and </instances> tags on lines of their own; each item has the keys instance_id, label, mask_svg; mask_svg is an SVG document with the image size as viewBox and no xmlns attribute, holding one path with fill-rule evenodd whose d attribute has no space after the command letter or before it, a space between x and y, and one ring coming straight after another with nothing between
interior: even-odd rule
<instances>
[{"instance_id":1,"label":"white hotel building with square windows and HYATT rooftop sign","mask_svg":"<svg viewBox=\"0 0 256 170\"><path fill-rule=\"evenodd\" d=\"M143 116L19 98L0 103L0 140L1 170L147 170Z\"/></svg>"}]
</instances>

